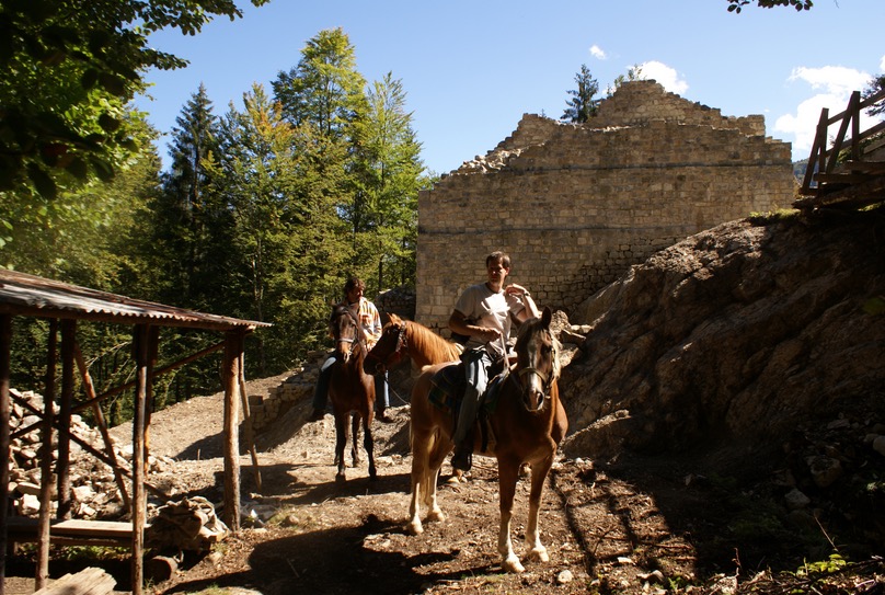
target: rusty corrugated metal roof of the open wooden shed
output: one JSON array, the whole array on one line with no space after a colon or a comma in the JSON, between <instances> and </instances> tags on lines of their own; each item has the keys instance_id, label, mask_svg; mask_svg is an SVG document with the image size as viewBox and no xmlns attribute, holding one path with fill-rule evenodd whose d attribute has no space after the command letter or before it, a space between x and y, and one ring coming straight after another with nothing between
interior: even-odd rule
<instances>
[{"instance_id":1,"label":"rusty corrugated metal roof of the open wooden shed","mask_svg":"<svg viewBox=\"0 0 885 595\"><path fill-rule=\"evenodd\" d=\"M0 270L0 313L76 318L122 324L150 323L214 331L252 331L257 327L272 325L133 299L5 270Z\"/></svg>"}]
</instances>

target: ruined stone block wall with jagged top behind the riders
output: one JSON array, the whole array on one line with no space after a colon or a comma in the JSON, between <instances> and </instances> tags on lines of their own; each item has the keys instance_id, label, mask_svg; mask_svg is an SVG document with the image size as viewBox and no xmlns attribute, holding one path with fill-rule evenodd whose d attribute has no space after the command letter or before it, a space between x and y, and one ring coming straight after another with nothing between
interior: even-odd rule
<instances>
[{"instance_id":1,"label":"ruined stone block wall with jagged top behind the riders","mask_svg":"<svg viewBox=\"0 0 885 595\"><path fill-rule=\"evenodd\" d=\"M418 198L416 320L445 329L494 250L540 307L568 311L632 264L793 199L788 142L654 81L623 84L584 125L525 115L485 157ZM444 334L446 331L444 331Z\"/></svg>"}]
</instances>

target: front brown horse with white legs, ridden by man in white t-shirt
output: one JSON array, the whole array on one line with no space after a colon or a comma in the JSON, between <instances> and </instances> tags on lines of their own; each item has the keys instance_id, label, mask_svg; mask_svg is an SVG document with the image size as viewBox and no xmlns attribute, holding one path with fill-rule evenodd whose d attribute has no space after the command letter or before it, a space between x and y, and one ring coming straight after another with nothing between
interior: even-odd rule
<instances>
[{"instance_id":1,"label":"front brown horse with white legs, ridden by man in white t-shirt","mask_svg":"<svg viewBox=\"0 0 885 595\"><path fill-rule=\"evenodd\" d=\"M560 346L550 330L551 319L550 308L544 308L541 318L527 320L519 328L516 365L501 381L496 407L487 417L492 438L485 451L482 450L482 432L474 432L474 451L494 456L498 462L498 552L502 556L502 568L507 572L525 570L510 542L516 481L519 467L524 462L531 465L529 517L526 526L529 558L541 562L550 560L547 548L541 545L538 515L547 476L553 465L559 443L567 430L556 387ZM429 394L434 374L447 365L451 364L426 368L412 390L412 500L409 507L411 519L406 527L412 534L424 530L419 518L422 499L428 508L427 522L445 520L436 499L436 482L439 467L453 447L452 415L433 404Z\"/></svg>"}]
</instances>

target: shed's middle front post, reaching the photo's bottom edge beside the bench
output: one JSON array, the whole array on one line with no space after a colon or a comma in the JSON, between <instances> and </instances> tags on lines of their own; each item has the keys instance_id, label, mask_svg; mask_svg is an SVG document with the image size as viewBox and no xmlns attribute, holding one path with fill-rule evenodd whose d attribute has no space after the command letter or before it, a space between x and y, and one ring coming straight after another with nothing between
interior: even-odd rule
<instances>
[{"instance_id":1,"label":"shed's middle front post, reaching the photo's bottom edge beside the bench","mask_svg":"<svg viewBox=\"0 0 885 595\"><path fill-rule=\"evenodd\" d=\"M133 595L141 595L145 582L145 414L149 379L148 324L138 324L133 333L136 361L135 407L133 416Z\"/></svg>"}]
</instances>

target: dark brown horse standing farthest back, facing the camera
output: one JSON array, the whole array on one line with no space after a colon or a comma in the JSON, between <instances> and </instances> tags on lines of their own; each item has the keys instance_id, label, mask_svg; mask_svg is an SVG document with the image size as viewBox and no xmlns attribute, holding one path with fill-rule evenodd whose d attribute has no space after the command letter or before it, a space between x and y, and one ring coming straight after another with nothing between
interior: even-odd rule
<instances>
[{"instance_id":1,"label":"dark brown horse standing farthest back, facing the camera","mask_svg":"<svg viewBox=\"0 0 885 595\"><path fill-rule=\"evenodd\" d=\"M368 353L366 337L356 317L346 306L335 306L329 318L329 329L335 341L337 361L332 365L329 377L329 400L335 415L335 462L338 472L335 477L344 481L344 447L348 434L353 435L350 455L354 467L359 465L359 421L363 420L363 445L369 457L369 478L376 479L375 439L371 422L375 417L375 380L363 370ZM347 422L350 420L350 427Z\"/></svg>"}]
</instances>

